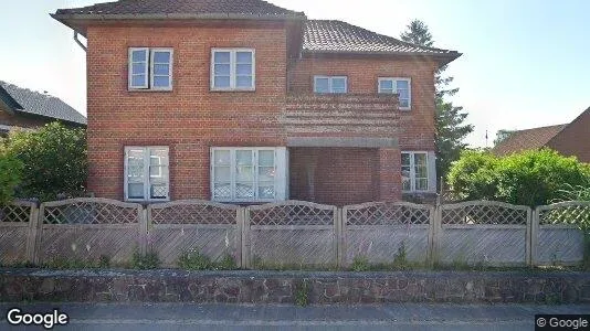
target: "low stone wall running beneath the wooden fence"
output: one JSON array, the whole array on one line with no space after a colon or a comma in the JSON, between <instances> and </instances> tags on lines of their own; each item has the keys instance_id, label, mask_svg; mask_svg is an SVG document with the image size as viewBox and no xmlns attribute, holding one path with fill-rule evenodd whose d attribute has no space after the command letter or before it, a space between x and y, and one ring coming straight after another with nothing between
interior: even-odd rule
<instances>
[{"instance_id":1,"label":"low stone wall running beneath the wooden fence","mask_svg":"<svg viewBox=\"0 0 590 331\"><path fill-rule=\"evenodd\" d=\"M3 302L590 302L590 273L4 269L0 284Z\"/></svg>"}]
</instances>

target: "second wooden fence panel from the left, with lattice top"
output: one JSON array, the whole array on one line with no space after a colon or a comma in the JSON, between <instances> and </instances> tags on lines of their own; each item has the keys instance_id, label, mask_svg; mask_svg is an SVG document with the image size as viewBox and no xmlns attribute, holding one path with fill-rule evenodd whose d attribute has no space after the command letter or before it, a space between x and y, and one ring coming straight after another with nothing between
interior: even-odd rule
<instances>
[{"instance_id":1,"label":"second wooden fence panel from the left, with lattice top","mask_svg":"<svg viewBox=\"0 0 590 331\"><path fill-rule=\"evenodd\" d=\"M40 210L38 263L55 258L128 263L140 249L143 207L97 197L45 202Z\"/></svg>"}]
</instances>

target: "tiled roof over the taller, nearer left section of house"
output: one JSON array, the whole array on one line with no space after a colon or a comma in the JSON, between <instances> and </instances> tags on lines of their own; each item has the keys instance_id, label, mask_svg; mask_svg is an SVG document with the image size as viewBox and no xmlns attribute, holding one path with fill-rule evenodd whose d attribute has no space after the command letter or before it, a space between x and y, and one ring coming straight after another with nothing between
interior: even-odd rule
<instances>
[{"instance_id":1,"label":"tiled roof over the taller, nearer left section of house","mask_svg":"<svg viewBox=\"0 0 590 331\"><path fill-rule=\"evenodd\" d=\"M55 15L194 15L235 14L243 17L301 17L303 12L291 11L263 0L119 0L88 7L59 9ZM179 17L181 18L181 17Z\"/></svg>"}]
</instances>

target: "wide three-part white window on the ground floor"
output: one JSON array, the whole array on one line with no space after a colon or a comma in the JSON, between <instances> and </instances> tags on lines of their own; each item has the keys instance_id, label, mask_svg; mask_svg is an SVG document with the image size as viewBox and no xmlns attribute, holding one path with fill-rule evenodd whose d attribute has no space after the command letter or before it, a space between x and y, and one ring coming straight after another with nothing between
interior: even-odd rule
<instances>
[{"instance_id":1,"label":"wide three-part white window on the ground floor","mask_svg":"<svg viewBox=\"0 0 590 331\"><path fill-rule=\"evenodd\" d=\"M284 200L285 148L212 148L211 197L215 201Z\"/></svg>"}]
</instances>

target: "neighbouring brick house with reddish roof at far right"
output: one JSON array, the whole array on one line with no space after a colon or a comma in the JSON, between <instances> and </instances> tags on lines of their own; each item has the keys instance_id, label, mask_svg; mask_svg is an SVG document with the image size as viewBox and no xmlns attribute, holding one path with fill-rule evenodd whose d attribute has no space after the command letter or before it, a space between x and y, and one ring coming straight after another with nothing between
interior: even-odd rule
<instances>
[{"instance_id":1,"label":"neighbouring brick house with reddish roof at far right","mask_svg":"<svg viewBox=\"0 0 590 331\"><path fill-rule=\"evenodd\" d=\"M570 124L517 130L492 149L496 156L547 147L590 163L590 108Z\"/></svg>"}]
</instances>

